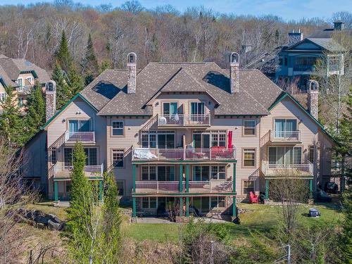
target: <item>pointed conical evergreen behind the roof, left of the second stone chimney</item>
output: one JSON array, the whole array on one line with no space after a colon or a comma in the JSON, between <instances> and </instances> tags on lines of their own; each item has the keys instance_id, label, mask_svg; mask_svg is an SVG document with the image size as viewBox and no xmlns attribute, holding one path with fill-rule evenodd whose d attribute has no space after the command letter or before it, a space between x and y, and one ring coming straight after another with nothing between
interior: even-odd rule
<instances>
[{"instance_id":1,"label":"pointed conical evergreen behind the roof, left of the second stone chimney","mask_svg":"<svg viewBox=\"0 0 352 264\"><path fill-rule=\"evenodd\" d=\"M89 84L99 74L99 64L96 59L92 36L89 34L87 42L87 51L83 60L83 73L85 84Z\"/></svg>"}]
</instances>

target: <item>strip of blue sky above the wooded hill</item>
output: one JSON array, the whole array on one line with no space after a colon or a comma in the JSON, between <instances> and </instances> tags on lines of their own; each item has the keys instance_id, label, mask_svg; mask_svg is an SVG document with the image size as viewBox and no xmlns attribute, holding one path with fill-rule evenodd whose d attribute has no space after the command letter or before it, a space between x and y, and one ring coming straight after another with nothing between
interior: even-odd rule
<instances>
[{"instance_id":1,"label":"strip of blue sky above the wooded hill","mask_svg":"<svg viewBox=\"0 0 352 264\"><path fill-rule=\"evenodd\" d=\"M51 1L51 0L39 0ZM82 4L97 6L112 4L121 6L125 2L112 0L74 0ZM0 0L0 4L30 4L38 0ZM188 6L204 6L220 13L235 13L237 15L277 15L284 20L299 20L301 18L329 19L332 13L338 11L352 11L352 0L139 0L145 8L155 8L170 4L179 11Z\"/></svg>"}]
</instances>

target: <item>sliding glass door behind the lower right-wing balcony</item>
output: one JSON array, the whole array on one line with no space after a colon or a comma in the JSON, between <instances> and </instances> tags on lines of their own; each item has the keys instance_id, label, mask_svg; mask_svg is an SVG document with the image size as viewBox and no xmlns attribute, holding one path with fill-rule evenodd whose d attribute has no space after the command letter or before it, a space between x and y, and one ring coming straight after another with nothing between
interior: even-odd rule
<instances>
[{"instance_id":1,"label":"sliding glass door behind the lower right-wing balcony","mask_svg":"<svg viewBox=\"0 0 352 264\"><path fill-rule=\"evenodd\" d=\"M301 164L301 146L270 146L269 164Z\"/></svg>"}]
</instances>

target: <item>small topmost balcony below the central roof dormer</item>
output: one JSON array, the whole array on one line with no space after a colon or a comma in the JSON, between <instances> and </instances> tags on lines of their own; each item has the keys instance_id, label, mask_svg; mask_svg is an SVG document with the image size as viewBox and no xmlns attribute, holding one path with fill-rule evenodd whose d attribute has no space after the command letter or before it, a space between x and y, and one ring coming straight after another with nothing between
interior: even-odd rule
<instances>
[{"instance_id":1,"label":"small topmost balcony below the central roof dormer","mask_svg":"<svg viewBox=\"0 0 352 264\"><path fill-rule=\"evenodd\" d=\"M159 127L199 127L210 126L210 114L204 115L161 115L158 117Z\"/></svg>"}]
</instances>

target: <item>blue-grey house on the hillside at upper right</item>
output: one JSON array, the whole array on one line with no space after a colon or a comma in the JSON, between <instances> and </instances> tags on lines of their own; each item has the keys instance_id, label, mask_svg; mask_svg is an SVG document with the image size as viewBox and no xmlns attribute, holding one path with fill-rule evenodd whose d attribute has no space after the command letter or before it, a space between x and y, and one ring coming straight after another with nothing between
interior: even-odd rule
<instances>
[{"instance_id":1,"label":"blue-grey house on the hillside at upper right","mask_svg":"<svg viewBox=\"0 0 352 264\"><path fill-rule=\"evenodd\" d=\"M334 28L317 30L303 39L303 33L289 33L289 44L279 52L279 67L275 74L275 82L294 82L298 88L306 90L307 81L315 70L315 63L329 54L327 74L344 75L344 49L332 39L336 32L344 31L352 35L351 29L345 29L344 23L334 23ZM339 72L340 71L340 72Z\"/></svg>"}]
</instances>

